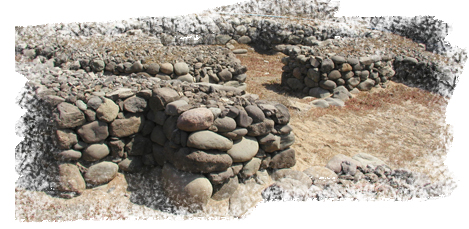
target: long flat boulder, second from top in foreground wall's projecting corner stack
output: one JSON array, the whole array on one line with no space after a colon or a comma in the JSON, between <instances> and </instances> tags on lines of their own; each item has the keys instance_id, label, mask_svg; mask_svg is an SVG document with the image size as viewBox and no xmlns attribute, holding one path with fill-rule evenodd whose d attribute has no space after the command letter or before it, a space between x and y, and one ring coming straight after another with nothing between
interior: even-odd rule
<instances>
[{"instance_id":1,"label":"long flat boulder, second from top in foreground wall's projecting corner stack","mask_svg":"<svg viewBox=\"0 0 469 229\"><path fill-rule=\"evenodd\" d=\"M227 151L233 147L233 142L212 131L201 130L189 135L187 146L201 150Z\"/></svg>"}]
</instances>

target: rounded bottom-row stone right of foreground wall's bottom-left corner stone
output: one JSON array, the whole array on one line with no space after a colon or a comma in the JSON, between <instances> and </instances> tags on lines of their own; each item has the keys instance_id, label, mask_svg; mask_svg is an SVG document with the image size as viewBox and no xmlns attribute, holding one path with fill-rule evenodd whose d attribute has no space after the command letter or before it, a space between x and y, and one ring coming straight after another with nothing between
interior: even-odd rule
<instances>
[{"instance_id":1,"label":"rounded bottom-row stone right of foreground wall's bottom-left corner stone","mask_svg":"<svg viewBox=\"0 0 469 229\"><path fill-rule=\"evenodd\" d=\"M119 166L115 163L103 161L92 165L85 173L85 181L93 185L108 183L117 176Z\"/></svg>"}]
</instances>

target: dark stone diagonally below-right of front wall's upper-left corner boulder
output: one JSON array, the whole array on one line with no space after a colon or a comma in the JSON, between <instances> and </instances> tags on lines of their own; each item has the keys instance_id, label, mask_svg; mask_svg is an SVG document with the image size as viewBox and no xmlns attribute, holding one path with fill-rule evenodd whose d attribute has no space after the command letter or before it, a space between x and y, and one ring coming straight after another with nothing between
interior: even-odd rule
<instances>
[{"instance_id":1,"label":"dark stone diagonally below-right of front wall's upper-left corner boulder","mask_svg":"<svg viewBox=\"0 0 469 229\"><path fill-rule=\"evenodd\" d=\"M77 129L77 133L86 143L101 142L109 136L108 125L103 121L94 121L83 125Z\"/></svg>"}]
</instances>

